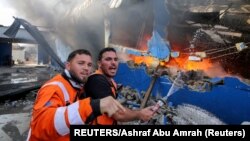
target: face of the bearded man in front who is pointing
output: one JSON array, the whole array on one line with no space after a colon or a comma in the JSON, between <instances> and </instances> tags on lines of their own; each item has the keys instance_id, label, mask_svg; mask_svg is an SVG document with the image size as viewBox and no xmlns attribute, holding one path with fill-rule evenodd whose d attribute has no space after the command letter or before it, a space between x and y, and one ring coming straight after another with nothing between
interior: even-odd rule
<instances>
[{"instance_id":1,"label":"face of the bearded man in front who is pointing","mask_svg":"<svg viewBox=\"0 0 250 141\"><path fill-rule=\"evenodd\" d=\"M70 62L67 62L66 69L84 83L92 72L92 58L86 54L77 54Z\"/></svg>"}]
</instances>

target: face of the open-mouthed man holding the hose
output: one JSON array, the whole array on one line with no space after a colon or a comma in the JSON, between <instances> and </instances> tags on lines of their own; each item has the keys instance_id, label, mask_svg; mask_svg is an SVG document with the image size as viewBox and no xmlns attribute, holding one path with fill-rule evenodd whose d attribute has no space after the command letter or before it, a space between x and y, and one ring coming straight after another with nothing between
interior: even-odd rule
<instances>
[{"instance_id":1,"label":"face of the open-mouthed man holding the hose","mask_svg":"<svg viewBox=\"0 0 250 141\"><path fill-rule=\"evenodd\" d=\"M102 54L98 66L107 77L114 77L118 68L118 58L115 52L107 51Z\"/></svg>"}]
</instances>

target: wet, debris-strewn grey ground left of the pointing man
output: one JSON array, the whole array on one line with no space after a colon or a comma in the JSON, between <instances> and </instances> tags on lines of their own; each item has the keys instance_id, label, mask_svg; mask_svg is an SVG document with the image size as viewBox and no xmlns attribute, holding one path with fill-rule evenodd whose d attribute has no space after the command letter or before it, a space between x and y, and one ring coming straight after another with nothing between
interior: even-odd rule
<instances>
[{"instance_id":1,"label":"wet, debris-strewn grey ground left of the pointing man","mask_svg":"<svg viewBox=\"0 0 250 141\"><path fill-rule=\"evenodd\" d=\"M0 140L26 140L37 89L55 73L46 66L1 68Z\"/></svg>"}]
</instances>

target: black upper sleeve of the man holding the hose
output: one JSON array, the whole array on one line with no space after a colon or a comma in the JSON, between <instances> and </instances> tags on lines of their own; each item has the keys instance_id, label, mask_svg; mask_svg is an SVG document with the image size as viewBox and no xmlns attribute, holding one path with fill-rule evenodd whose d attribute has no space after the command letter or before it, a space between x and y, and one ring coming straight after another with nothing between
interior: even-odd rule
<instances>
[{"instance_id":1,"label":"black upper sleeve of the man holding the hose","mask_svg":"<svg viewBox=\"0 0 250 141\"><path fill-rule=\"evenodd\" d=\"M88 78L84 86L86 96L93 99L104 98L107 96L113 96L111 84L101 74L94 74Z\"/></svg>"}]
</instances>

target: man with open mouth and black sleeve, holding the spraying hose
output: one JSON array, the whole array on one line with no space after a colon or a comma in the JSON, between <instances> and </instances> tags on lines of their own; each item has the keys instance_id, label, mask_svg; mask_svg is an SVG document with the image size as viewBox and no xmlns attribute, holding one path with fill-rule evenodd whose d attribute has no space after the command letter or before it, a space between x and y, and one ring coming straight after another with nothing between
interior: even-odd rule
<instances>
[{"instance_id":1,"label":"man with open mouth and black sleeve, holding the spraying hose","mask_svg":"<svg viewBox=\"0 0 250 141\"><path fill-rule=\"evenodd\" d=\"M104 48L98 56L98 70L89 76L85 84L87 97L93 99L104 98L107 96L117 97L117 86L113 77L118 68L118 57L115 49ZM153 116L152 107L141 110L126 109L125 112L116 112L112 117L107 115L98 116L92 124L113 125L116 121L126 122L132 120L148 121Z\"/></svg>"}]
</instances>

